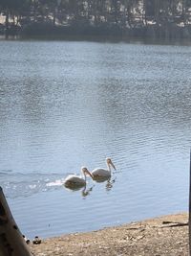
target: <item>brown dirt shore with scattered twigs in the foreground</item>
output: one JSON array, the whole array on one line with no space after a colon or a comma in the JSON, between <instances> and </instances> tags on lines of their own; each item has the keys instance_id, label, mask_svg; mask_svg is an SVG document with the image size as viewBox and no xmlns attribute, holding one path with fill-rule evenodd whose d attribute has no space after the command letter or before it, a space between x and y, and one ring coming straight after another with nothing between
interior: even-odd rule
<instances>
[{"instance_id":1,"label":"brown dirt shore with scattered twigs in the foreground","mask_svg":"<svg viewBox=\"0 0 191 256\"><path fill-rule=\"evenodd\" d=\"M30 247L35 256L188 256L188 215L63 235Z\"/></svg>"}]
</instances>

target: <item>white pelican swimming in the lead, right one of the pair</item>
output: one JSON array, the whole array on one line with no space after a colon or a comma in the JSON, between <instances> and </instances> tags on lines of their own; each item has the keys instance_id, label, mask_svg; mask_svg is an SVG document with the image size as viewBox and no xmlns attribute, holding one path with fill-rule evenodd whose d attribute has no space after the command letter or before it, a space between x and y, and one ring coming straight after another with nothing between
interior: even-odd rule
<instances>
[{"instance_id":1,"label":"white pelican swimming in the lead, right one of the pair","mask_svg":"<svg viewBox=\"0 0 191 256\"><path fill-rule=\"evenodd\" d=\"M111 167L116 170L115 165L113 164L111 158L106 158L106 164L107 164L107 170L102 169L102 168L96 168L92 171L93 179L98 179L98 178L109 178L111 176Z\"/></svg>"}]
</instances>

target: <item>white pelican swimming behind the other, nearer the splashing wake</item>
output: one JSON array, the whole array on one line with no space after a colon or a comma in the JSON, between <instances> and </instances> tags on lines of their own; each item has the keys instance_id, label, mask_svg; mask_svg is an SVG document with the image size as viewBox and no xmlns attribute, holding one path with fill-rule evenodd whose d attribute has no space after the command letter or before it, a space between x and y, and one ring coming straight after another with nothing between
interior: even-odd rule
<instances>
[{"instance_id":1,"label":"white pelican swimming behind the other, nearer the splashing wake","mask_svg":"<svg viewBox=\"0 0 191 256\"><path fill-rule=\"evenodd\" d=\"M88 171L86 167L81 168L82 175L68 175L64 180L65 187L83 187L86 185L86 175L93 175Z\"/></svg>"}]
</instances>

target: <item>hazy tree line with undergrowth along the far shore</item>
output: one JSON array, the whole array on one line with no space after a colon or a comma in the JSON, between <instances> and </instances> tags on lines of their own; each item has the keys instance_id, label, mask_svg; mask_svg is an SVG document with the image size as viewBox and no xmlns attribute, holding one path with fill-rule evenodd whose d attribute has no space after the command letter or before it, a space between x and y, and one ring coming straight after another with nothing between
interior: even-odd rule
<instances>
[{"instance_id":1,"label":"hazy tree line with undergrowth along the far shore","mask_svg":"<svg viewBox=\"0 0 191 256\"><path fill-rule=\"evenodd\" d=\"M191 0L0 0L0 14L5 34L124 35L189 27Z\"/></svg>"}]
</instances>

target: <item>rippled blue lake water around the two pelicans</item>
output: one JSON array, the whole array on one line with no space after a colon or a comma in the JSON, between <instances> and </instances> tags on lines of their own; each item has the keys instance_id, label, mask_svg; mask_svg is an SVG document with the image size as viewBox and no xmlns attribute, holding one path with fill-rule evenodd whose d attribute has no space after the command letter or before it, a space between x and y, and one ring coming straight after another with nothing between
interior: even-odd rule
<instances>
[{"instance_id":1,"label":"rippled blue lake water around the two pelicans","mask_svg":"<svg viewBox=\"0 0 191 256\"><path fill-rule=\"evenodd\" d=\"M191 47L0 41L0 185L31 239L187 211ZM117 167L86 190L69 174Z\"/></svg>"}]
</instances>

